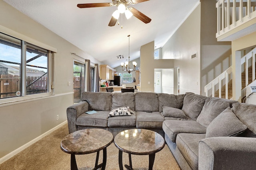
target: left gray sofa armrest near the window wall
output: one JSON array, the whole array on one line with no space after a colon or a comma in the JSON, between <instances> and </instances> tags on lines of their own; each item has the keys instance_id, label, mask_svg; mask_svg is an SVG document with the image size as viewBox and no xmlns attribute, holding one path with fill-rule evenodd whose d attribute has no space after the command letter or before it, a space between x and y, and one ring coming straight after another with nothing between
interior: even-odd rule
<instances>
[{"instance_id":1,"label":"left gray sofa armrest near the window wall","mask_svg":"<svg viewBox=\"0 0 256 170\"><path fill-rule=\"evenodd\" d=\"M79 102L67 108L67 118L68 118L68 131L73 133L77 131L76 119L82 113L88 111L89 104L86 101Z\"/></svg>"}]
</instances>

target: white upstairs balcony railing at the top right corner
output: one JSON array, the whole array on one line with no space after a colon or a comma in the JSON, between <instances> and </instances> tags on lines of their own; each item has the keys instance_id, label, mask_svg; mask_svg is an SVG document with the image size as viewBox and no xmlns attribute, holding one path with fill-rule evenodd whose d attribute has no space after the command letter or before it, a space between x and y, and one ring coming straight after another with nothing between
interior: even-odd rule
<instances>
[{"instance_id":1,"label":"white upstairs balcony railing at the top right corner","mask_svg":"<svg viewBox=\"0 0 256 170\"><path fill-rule=\"evenodd\" d=\"M256 18L256 0L220 0L216 8L217 38Z\"/></svg>"}]
</instances>

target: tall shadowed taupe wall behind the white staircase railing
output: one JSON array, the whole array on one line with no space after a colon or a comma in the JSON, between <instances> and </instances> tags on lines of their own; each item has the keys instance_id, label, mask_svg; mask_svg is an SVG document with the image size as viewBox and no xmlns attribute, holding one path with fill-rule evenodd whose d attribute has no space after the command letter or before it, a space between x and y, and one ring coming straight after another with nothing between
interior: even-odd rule
<instances>
[{"instance_id":1,"label":"tall shadowed taupe wall behind the white staircase railing","mask_svg":"<svg viewBox=\"0 0 256 170\"><path fill-rule=\"evenodd\" d=\"M201 93L204 86L232 65L231 42L218 42L216 39L216 1L201 1ZM209 92L211 94L212 92Z\"/></svg>"}]
</instances>

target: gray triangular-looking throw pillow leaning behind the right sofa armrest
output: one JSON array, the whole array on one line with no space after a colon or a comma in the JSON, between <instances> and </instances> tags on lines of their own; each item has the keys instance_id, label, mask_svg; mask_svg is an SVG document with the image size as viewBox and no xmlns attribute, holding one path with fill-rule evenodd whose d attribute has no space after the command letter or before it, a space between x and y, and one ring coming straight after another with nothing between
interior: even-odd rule
<instances>
[{"instance_id":1,"label":"gray triangular-looking throw pillow leaning behind the right sofa armrest","mask_svg":"<svg viewBox=\"0 0 256 170\"><path fill-rule=\"evenodd\" d=\"M228 107L208 125L206 128L206 138L237 136L246 129L246 125Z\"/></svg>"}]
</instances>

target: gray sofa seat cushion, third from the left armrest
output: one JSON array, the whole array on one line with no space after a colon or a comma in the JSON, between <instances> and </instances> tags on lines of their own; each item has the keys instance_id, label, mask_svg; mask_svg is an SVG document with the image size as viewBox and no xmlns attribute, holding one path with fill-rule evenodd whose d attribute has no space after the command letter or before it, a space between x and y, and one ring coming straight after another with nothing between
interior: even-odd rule
<instances>
[{"instance_id":1,"label":"gray sofa seat cushion, third from the left armrest","mask_svg":"<svg viewBox=\"0 0 256 170\"><path fill-rule=\"evenodd\" d=\"M136 111L136 128L162 129L164 117L159 111L147 113L146 111Z\"/></svg>"}]
</instances>

